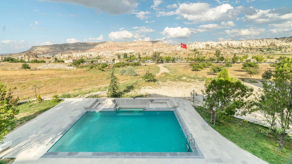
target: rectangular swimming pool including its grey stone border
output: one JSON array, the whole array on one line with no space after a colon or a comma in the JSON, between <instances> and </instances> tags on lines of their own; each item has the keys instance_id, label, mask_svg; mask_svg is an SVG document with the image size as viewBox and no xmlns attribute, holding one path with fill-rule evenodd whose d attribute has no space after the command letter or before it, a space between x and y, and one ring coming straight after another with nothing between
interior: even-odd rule
<instances>
[{"instance_id":1,"label":"rectangular swimming pool including its grey stone border","mask_svg":"<svg viewBox=\"0 0 292 164\"><path fill-rule=\"evenodd\" d=\"M195 140L193 140L193 142L190 143L190 151L186 151L186 136L188 133L190 133L190 131L188 130L187 126L185 125L185 122L183 121L183 119L181 118L178 110L176 108L165 108L165 107L161 107L161 108L144 108L144 112L143 111L139 111L140 109L137 109L138 111L122 111L122 112L116 112L116 109L114 108L94 108L94 109L86 109L84 110L84 112L80 113L78 117L76 117L66 128L63 129L63 131L59 134L59 136L61 137L57 142L55 141L55 144L53 146L48 147L48 151L43 154L41 156L41 158L201 158L203 159L204 156L201 153L197 143L195 142ZM165 111L167 111L166 113L164 113ZM102 113L102 114L101 114ZM152 126L152 127L159 127L163 124L168 124L170 126L166 127L166 129L169 127L171 127L170 130L173 129L178 129L177 132L175 132L174 135L177 135L178 138L181 138L182 140L179 141L171 141L172 140L172 136L169 135L169 133L161 133L163 131L159 130L156 131L157 133L154 133L156 135L159 134L158 138L163 138L163 141L168 141L168 144L164 144L166 146L161 146L160 142L156 142L156 144L151 144L151 141L149 141L149 139L151 137L146 137L148 134L153 134L154 131L152 131L152 129L148 129L147 131L144 128L141 128L139 126L143 125L143 124L134 124L133 126L126 126L127 129L132 129L133 132L132 133L136 133L138 132L137 129L142 129L142 132L144 132L143 134L140 133L139 137L126 137L126 138L131 138L132 140L128 140L127 142L125 142L125 140L122 140L122 142L126 143L126 147L122 147L121 145L123 145L123 143L119 142L119 138L121 135L124 134L129 134L128 132L124 132L121 133L123 131L121 131L121 129L117 129L114 130L114 128L116 128L116 124L118 124L118 121L116 120L117 118L112 118L111 121L101 121L101 123L90 123L92 120L89 119L89 115L93 115L93 120L102 120L103 117L109 117L112 114L115 114L115 117L137 117L140 118L143 116L147 116L147 115L152 115L153 117L146 117L144 119L148 119L148 123L147 126ZM156 120L167 120L163 117L165 115L171 115L172 117L172 121L171 124L169 123L156 123ZM95 116L94 116L95 115ZM108 116L107 116L108 115ZM92 116L90 116L92 117ZM156 118L156 119L154 119ZM84 119L85 122L83 122L82 120ZM87 122L87 121L89 122ZM80 126L78 125L79 122L83 125L86 124L86 126L82 126L80 124ZM126 123L123 124L130 124L131 121L128 121ZM164 121L162 121L164 122ZM152 124L153 123L153 124ZM174 124L175 123L175 124ZM109 128L109 124L112 124L114 127ZM121 124L121 123L120 123ZM121 124L121 125L123 125ZM76 126L75 126L76 125ZM90 126L87 126L90 125ZM76 128L75 128L76 127ZM90 127L98 127L98 128L103 128L102 131L106 131L106 132L116 132L113 133L112 135L110 135L111 137L105 137L105 136L99 136L97 137L97 135L92 135L91 133L87 133L87 135L84 135L84 138L82 138L81 136L83 135L83 133L79 133L80 131L86 132L89 131L88 128ZM175 128L172 128L175 127ZM85 128L85 129L83 129ZM160 128L163 129L163 128ZM73 133L74 132L74 133ZM92 131L91 131L92 132ZM117 132L120 132L117 135ZM146 133L147 132L147 133ZM85 134L85 133L84 133ZM98 134L98 133L95 133ZM131 134L131 133L130 133ZM107 135L107 134L105 134ZM145 138L141 138L145 135ZM77 140L79 137L81 138L81 140L86 141L83 142L83 144L80 144L81 148L77 145L78 142ZM86 137L85 137L86 136ZM89 136L95 136L95 137L89 137ZM128 135L126 135L128 136ZM161 137L162 136L162 137ZM91 138L91 139L88 139ZM111 140L107 140L108 142L106 143L104 139L106 138L110 138ZM166 139L170 139L170 140L166 140ZM190 139L190 136L188 137L188 139ZM63 142L63 141L65 142ZM89 140L92 141L98 141L100 140L101 142L104 142L105 144L103 144L103 146L98 146L96 143L93 143L93 147L91 146L91 143L87 142ZM147 141L148 142L145 142ZM114 150L111 148L108 148L108 143L112 142L111 144L115 144L116 149L119 150ZM132 143L131 143L132 142ZM176 143L176 144L170 144L170 142L172 143ZM80 142L81 143L81 142ZM66 146L66 145L71 145L71 146ZM102 145L102 144L101 144ZM139 146L140 145L140 146ZM141 146L142 145L142 146ZM146 146L145 146L146 145ZM194 145L195 147L193 147L192 145ZM158 147L158 149L156 150L150 150L149 147ZM79 147L78 149L75 149L72 147ZM86 147L91 147L90 150ZM96 147L100 147L100 150L96 150ZM131 149L128 149L130 148ZM160 148L159 148L160 147ZM134 148L134 149L132 149ZM142 150L143 148L143 150ZM128 150L126 150L128 149ZM137 150L139 149L139 150ZM90 152L89 152L90 151ZM145 151L145 152L143 152ZM150 152L153 151L153 152Z\"/></svg>"}]
</instances>

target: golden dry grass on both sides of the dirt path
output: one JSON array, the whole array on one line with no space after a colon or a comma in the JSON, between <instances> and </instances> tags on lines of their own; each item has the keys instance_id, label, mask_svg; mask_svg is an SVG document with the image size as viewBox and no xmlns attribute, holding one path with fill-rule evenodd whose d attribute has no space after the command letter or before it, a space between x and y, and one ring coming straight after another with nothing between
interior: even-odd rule
<instances>
[{"instance_id":1,"label":"golden dry grass on both sides of the dirt path","mask_svg":"<svg viewBox=\"0 0 292 164\"><path fill-rule=\"evenodd\" d=\"M8 87L16 87L14 94L20 100L28 100L35 98L34 85L36 85L36 94L40 93L42 98L51 97L54 94L72 93L72 92L96 92L104 91L109 84L106 79L109 74L109 68L105 71L97 70L96 68L89 69L87 66L80 66L78 69L33 69L42 64L29 64L32 69L18 70L22 63L0 63L0 81ZM205 77L215 77L216 75L210 73L210 68L204 70L192 71L188 67L188 63L165 63L164 67L170 73L162 74L157 78L158 82L184 81L191 82L189 79L201 79ZM242 81L253 79L261 79L261 74L266 69L272 69L269 64L260 64L260 73L254 75L252 78L241 69L241 64L233 64L232 67L227 68L231 77L239 78ZM8 69L13 68L13 69ZM159 67L154 64L142 65L134 67L139 76L125 77L119 76L117 68L117 77L120 83L131 82L139 79L146 70L150 70L153 74L159 72ZM202 82L203 83L203 82ZM158 85L158 83L157 83ZM166 84L167 86L167 84ZM171 95L169 95L171 96Z\"/></svg>"}]
</instances>

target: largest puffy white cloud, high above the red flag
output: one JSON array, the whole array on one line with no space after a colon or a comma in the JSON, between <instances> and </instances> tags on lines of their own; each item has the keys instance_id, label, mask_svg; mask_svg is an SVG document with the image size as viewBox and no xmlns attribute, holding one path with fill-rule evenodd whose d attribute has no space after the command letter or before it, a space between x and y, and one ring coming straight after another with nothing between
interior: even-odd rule
<instances>
[{"instance_id":1,"label":"largest puffy white cloud, high above the red flag","mask_svg":"<svg viewBox=\"0 0 292 164\"><path fill-rule=\"evenodd\" d=\"M210 8L208 3L182 3L175 14L179 15L178 19L187 19L193 23L198 23L230 20L235 18L239 11L227 3L215 8Z\"/></svg>"}]
</instances>

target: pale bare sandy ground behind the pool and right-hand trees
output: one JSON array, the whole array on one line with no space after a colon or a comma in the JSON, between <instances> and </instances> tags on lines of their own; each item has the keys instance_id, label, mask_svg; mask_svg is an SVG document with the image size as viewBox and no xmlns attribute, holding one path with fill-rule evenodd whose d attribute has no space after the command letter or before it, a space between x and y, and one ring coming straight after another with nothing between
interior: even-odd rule
<instances>
[{"instance_id":1,"label":"pale bare sandy ground behind the pool and right-hand trees","mask_svg":"<svg viewBox=\"0 0 292 164\"><path fill-rule=\"evenodd\" d=\"M164 68L165 64L159 64L160 72L157 75L163 75L164 72L169 72L166 68ZM167 70L167 71L165 71ZM260 80L253 80L255 82L248 83L243 82L246 86L254 88L254 94L258 93L258 90L262 87ZM179 98L183 100L190 101L191 104L195 106L202 106L203 101L203 94L202 90L204 90L204 82L198 80L190 80L190 82L174 82L174 81L167 81L167 82L159 82L158 87L153 86L145 86L139 90L135 90L135 93L138 94L148 94L148 97L173 97ZM195 92L195 95L191 95L191 92ZM197 95L196 95L197 93ZM251 97L253 98L253 97ZM239 111L240 112L240 111ZM246 114L246 116L235 116L241 119L246 119L247 121L251 121L257 124L261 124L264 126L269 126L266 121L265 116L259 112L253 112L251 114ZM289 133L292 134L291 129Z\"/></svg>"}]
</instances>

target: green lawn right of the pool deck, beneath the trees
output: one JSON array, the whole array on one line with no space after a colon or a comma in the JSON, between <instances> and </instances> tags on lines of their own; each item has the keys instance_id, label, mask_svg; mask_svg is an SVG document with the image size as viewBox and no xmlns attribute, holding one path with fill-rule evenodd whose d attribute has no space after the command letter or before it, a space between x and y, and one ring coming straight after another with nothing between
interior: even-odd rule
<instances>
[{"instance_id":1,"label":"green lawn right of the pool deck, beneath the trees","mask_svg":"<svg viewBox=\"0 0 292 164\"><path fill-rule=\"evenodd\" d=\"M208 110L201 107L195 107L195 110L205 121L210 121ZM234 118L224 123L218 122L216 126L212 127L228 140L268 163L292 163L291 135L286 136L285 147L281 150L278 147L277 135L275 133L267 134L268 128L265 126Z\"/></svg>"}]
</instances>

